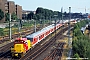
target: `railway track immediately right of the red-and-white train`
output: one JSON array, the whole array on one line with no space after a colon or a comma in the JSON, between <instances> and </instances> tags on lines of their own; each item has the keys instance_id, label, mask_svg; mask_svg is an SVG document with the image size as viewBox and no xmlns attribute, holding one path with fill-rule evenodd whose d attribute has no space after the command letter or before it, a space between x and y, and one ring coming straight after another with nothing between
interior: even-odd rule
<instances>
[{"instance_id":1,"label":"railway track immediately right of the red-and-white train","mask_svg":"<svg viewBox=\"0 0 90 60\"><path fill-rule=\"evenodd\" d=\"M63 31L65 32L68 29L65 28L64 30L62 29L59 33L56 34L56 36L52 37L49 41L47 41L45 44L43 45L39 45L39 48L37 49L37 47L34 47L33 50L29 50L26 55L24 57L22 57L19 60L35 60L36 57L38 57L41 53L43 53L50 45L52 45L57 38L62 37L62 33Z\"/></svg>"}]
</instances>

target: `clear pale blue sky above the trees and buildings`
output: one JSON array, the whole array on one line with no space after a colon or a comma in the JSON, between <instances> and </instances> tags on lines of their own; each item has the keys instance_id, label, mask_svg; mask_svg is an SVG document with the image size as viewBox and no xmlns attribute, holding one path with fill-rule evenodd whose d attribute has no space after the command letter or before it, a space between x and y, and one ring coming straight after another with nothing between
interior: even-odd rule
<instances>
[{"instance_id":1,"label":"clear pale blue sky above the trees and buildings","mask_svg":"<svg viewBox=\"0 0 90 60\"><path fill-rule=\"evenodd\" d=\"M14 1L15 4L21 5L23 10L36 11L38 7L50 9L53 11L71 12L77 13L90 13L90 0L9 0Z\"/></svg>"}]
</instances>

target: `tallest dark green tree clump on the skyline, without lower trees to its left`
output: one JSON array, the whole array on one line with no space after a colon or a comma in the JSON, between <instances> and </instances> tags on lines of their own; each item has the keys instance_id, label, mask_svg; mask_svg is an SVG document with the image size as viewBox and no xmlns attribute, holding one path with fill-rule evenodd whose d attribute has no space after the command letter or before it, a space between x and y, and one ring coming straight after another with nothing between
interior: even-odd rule
<instances>
[{"instance_id":1,"label":"tallest dark green tree clump on the skyline, without lower trees to its left","mask_svg":"<svg viewBox=\"0 0 90 60\"><path fill-rule=\"evenodd\" d=\"M38 7L36 9L36 14L35 14L34 18L36 20L39 20L39 19L49 20L51 18L55 18L54 15L57 15L57 18L59 18L60 17L59 16L59 11L52 11L52 10L49 10L49 9Z\"/></svg>"}]
</instances>

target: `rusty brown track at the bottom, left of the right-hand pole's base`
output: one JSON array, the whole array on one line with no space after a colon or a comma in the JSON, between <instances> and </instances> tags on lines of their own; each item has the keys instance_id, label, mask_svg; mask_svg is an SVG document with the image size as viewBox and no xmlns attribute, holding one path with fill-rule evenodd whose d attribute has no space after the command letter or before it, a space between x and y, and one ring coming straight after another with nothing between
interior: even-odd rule
<instances>
[{"instance_id":1,"label":"rusty brown track at the bottom, left of the right-hand pole's base","mask_svg":"<svg viewBox=\"0 0 90 60\"><path fill-rule=\"evenodd\" d=\"M59 43L51 54L44 58L44 60L61 60L64 44L65 43Z\"/></svg>"}]
</instances>

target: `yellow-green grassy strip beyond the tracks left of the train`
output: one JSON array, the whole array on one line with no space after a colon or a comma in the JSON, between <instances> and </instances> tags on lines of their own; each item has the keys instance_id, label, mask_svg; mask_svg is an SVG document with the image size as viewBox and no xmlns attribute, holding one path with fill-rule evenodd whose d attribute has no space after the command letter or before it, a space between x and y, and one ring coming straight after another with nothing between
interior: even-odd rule
<instances>
[{"instance_id":1,"label":"yellow-green grassy strip beyond the tracks left of the train","mask_svg":"<svg viewBox=\"0 0 90 60\"><path fill-rule=\"evenodd\" d=\"M45 22L44 22L45 21ZM47 24L47 23L49 23L49 21L48 20L42 20L42 24ZM30 29L31 27L33 27L34 26L34 24L35 24L35 22L34 21L28 21L28 22L24 22L23 23L23 29L21 29L20 31L21 32L24 32L24 31L26 31L25 29L27 28L27 29ZM40 21L38 21L38 20L36 20L36 25L37 26L40 26L41 25L41 23L40 23ZM16 33L19 33L19 28L18 28L18 24L15 24L13 27L11 27L11 33L12 34L16 34ZM9 35L9 27L6 27L6 28L4 28L3 29L3 33L4 33L4 35L3 36L8 36ZM1 36L2 37L2 36Z\"/></svg>"}]
</instances>

